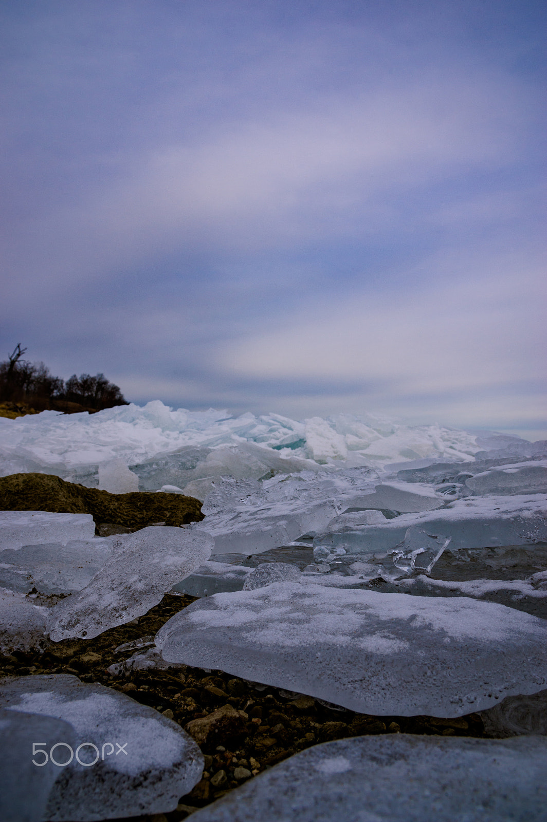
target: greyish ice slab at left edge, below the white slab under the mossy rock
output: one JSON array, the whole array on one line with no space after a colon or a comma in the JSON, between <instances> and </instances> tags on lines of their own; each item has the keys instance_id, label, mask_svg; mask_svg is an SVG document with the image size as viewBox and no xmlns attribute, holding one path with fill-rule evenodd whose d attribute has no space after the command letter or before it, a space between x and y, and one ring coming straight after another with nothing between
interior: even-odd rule
<instances>
[{"instance_id":1,"label":"greyish ice slab at left edge, below the white slab under the mossy rock","mask_svg":"<svg viewBox=\"0 0 547 822\"><path fill-rule=\"evenodd\" d=\"M7 548L0 552L0 585L22 593L81 591L111 554L112 542L100 537Z\"/></svg>"}]
</instances>

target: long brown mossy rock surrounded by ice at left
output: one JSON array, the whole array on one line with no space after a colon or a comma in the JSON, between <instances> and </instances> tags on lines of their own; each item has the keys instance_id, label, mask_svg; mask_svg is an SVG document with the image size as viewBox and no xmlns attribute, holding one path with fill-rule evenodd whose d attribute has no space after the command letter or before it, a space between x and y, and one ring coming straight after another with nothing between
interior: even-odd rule
<instances>
[{"instance_id":1,"label":"long brown mossy rock surrounded by ice at left","mask_svg":"<svg viewBox=\"0 0 547 822\"><path fill-rule=\"evenodd\" d=\"M96 524L113 523L128 529L159 522L186 525L203 519L202 503L193 496L141 491L111 494L67 483L49 473L0 477L0 510L90 514Z\"/></svg>"}]
</instances>

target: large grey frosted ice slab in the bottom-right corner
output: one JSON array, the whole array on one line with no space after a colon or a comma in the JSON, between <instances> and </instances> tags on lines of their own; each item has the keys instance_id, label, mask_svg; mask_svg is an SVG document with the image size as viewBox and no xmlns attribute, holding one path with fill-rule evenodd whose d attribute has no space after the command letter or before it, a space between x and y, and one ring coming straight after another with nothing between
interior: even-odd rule
<instances>
[{"instance_id":1,"label":"large grey frosted ice slab in the bottom-right corner","mask_svg":"<svg viewBox=\"0 0 547 822\"><path fill-rule=\"evenodd\" d=\"M543 822L547 740L390 734L292 756L195 822Z\"/></svg>"}]
</instances>

